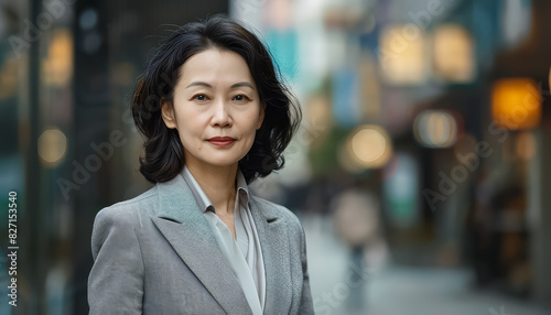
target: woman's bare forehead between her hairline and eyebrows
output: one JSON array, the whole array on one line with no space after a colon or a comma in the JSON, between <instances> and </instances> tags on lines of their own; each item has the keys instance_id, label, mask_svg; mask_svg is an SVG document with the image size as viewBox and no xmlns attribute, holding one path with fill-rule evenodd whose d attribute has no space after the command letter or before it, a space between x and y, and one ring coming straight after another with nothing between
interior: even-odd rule
<instances>
[{"instance_id":1,"label":"woman's bare forehead between her hairline and eyebrows","mask_svg":"<svg viewBox=\"0 0 551 315\"><path fill-rule=\"evenodd\" d=\"M181 67L183 83L196 80L210 84L249 82L255 84L245 59L231 51L207 50L190 57Z\"/></svg>"}]
</instances>

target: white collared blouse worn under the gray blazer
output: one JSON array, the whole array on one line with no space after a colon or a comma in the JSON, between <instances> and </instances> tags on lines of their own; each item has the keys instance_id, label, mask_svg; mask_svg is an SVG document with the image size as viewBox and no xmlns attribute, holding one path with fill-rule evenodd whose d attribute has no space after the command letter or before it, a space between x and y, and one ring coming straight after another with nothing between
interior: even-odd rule
<instances>
[{"instance_id":1,"label":"white collared blouse worn under the gray blazer","mask_svg":"<svg viewBox=\"0 0 551 315\"><path fill-rule=\"evenodd\" d=\"M264 263L257 228L249 209L249 191L241 171L237 171L237 192L234 205L237 239L234 239L228 226L216 215L213 203L186 166L184 166L182 175L210 225L224 257L228 260L241 285L252 314L262 314L266 298Z\"/></svg>"}]
</instances>

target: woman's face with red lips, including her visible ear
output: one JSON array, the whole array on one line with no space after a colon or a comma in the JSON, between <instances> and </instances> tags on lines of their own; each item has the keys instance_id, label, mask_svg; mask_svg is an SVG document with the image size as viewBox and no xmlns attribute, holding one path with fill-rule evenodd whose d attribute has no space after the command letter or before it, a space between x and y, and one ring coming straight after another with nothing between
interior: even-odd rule
<instances>
[{"instance_id":1,"label":"woman's face with red lips, including her visible ear","mask_svg":"<svg viewBox=\"0 0 551 315\"><path fill-rule=\"evenodd\" d=\"M177 129L187 165L234 165L249 152L264 117L245 59L229 51L207 50L188 58L164 102L168 128Z\"/></svg>"}]
</instances>

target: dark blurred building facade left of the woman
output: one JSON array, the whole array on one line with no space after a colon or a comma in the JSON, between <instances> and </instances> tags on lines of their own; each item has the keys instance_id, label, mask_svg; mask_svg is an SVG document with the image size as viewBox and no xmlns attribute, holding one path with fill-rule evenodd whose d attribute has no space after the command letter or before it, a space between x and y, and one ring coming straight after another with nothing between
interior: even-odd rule
<instances>
[{"instance_id":1,"label":"dark blurred building facade left of the woman","mask_svg":"<svg viewBox=\"0 0 551 315\"><path fill-rule=\"evenodd\" d=\"M2 294L0 313L86 314L96 213L150 187L129 111L137 76L162 25L227 12L228 2L0 4L2 191L21 200L19 306Z\"/></svg>"}]
</instances>

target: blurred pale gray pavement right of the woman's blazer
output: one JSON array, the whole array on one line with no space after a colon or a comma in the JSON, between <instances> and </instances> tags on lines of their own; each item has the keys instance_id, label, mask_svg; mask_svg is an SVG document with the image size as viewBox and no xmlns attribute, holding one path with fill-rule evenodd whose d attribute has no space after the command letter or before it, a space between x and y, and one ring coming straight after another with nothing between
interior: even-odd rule
<instances>
[{"instance_id":1,"label":"blurred pale gray pavement right of the woman's blazer","mask_svg":"<svg viewBox=\"0 0 551 315\"><path fill-rule=\"evenodd\" d=\"M491 291L474 289L468 269L432 269L389 262L369 270L361 289L346 285L353 264L332 219L302 218L309 250L312 296L316 314L334 315L549 315L533 306ZM344 285L343 285L344 284ZM348 287L344 289L344 287ZM357 296L355 291L361 291ZM361 301L354 301L360 297Z\"/></svg>"}]
</instances>

